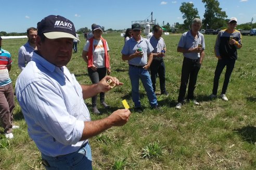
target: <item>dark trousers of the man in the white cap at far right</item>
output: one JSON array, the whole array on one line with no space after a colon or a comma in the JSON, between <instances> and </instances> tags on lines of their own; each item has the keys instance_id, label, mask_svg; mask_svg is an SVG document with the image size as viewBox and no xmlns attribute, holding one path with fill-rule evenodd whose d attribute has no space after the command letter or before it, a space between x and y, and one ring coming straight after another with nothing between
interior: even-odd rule
<instances>
[{"instance_id":1,"label":"dark trousers of the man in the white cap at far right","mask_svg":"<svg viewBox=\"0 0 256 170\"><path fill-rule=\"evenodd\" d=\"M213 79L212 94L214 94L214 95L217 94L217 90L219 87L219 79L220 79L221 73L225 66L226 66L226 73L225 73L225 78L224 78L224 83L223 83L221 94L226 94L229 78L231 76L231 73L233 72L235 62L236 62L236 60L234 60L234 59L218 60L218 63L217 63L216 69L215 69L214 79Z\"/></svg>"}]
</instances>

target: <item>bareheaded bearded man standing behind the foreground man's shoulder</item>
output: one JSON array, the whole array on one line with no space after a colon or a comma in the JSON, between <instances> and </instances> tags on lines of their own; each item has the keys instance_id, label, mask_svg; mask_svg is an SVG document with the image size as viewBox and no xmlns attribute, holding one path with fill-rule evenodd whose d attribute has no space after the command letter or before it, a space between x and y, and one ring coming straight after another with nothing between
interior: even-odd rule
<instances>
[{"instance_id":1,"label":"bareheaded bearded man standing behind the foreground man's shoulder","mask_svg":"<svg viewBox=\"0 0 256 170\"><path fill-rule=\"evenodd\" d=\"M27 36L28 41L26 44L20 47L18 54L18 66L21 69L21 71L25 68L25 65L31 61L33 51L36 50L36 28L30 27L27 30Z\"/></svg>"}]
</instances>

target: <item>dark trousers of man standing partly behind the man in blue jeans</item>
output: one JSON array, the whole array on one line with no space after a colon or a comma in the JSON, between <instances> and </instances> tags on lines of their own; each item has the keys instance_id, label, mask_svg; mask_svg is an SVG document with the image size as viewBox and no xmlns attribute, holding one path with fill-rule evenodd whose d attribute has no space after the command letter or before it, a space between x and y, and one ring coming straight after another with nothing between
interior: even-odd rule
<instances>
[{"instance_id":1,"label":"dark trousers of man standing partly behind the man in blue jeans","mask_svg":"<svg viewBox=\"0 0 256 170\"><path fill-rule=\"evenodd\" d=\"M165 65L163 60L152 60L150 65L150 75L154 92L156 92L157 73L159 76L160 90L163 94L165 90Z\"/></svg>"}]
</instances>

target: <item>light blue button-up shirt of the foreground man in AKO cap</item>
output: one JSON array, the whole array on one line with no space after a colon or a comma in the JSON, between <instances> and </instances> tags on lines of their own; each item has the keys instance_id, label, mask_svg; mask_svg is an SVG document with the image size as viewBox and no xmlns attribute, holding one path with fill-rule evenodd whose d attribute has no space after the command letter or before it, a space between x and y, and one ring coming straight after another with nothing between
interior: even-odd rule
<instances>
[{"instance_id":1,"label":"light blue button-up shirt of the foreground man in AKO cap","mask_svg":"<svg viewBox=\"0 0 256 170\"><path fill-rule=\"evenodd\" d=\"M28 133L45 155L78 150L84 121L91 121L82 88L66 66L57 67L36 52L16 81L16 96Z\"/></svg>"}]
</instances>

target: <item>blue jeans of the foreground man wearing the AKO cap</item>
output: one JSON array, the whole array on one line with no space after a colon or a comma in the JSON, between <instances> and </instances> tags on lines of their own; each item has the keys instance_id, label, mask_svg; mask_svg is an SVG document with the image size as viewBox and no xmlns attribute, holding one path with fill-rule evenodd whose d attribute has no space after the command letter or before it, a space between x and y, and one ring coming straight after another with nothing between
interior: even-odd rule
<instances>
[{"instance_id":1,"label":"blue jeans of the foreground man wearing the AKO cap","mask_svg":"<svg viewBox=\"0 0 256 170\"><path fill-rule=\"evenodd\" d=\"M49 157L43 153L42 164L46 170L91 170L92 167L92 151L88 143L84 144L78 151L59 157Z\"/></svg>"}]
</instances>

